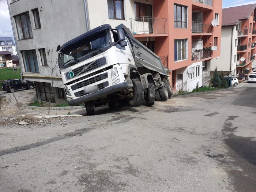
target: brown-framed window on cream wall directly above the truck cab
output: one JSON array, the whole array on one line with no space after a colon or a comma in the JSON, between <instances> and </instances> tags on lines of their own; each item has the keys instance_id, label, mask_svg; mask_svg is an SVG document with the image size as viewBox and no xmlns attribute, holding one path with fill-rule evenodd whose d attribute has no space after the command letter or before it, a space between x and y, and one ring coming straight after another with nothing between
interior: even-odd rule
<instances>
[{"instance_id":1,"label":"brown-framed window on cream wall directly above the truck cab","mask_svg":"<svg viewBox=\"0 0 256 192\"><path fill-rule=\"evenodd\" d=\"M124 20L124 0L108 0L109 19Z\"/></svg>"}]
</instances>

